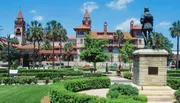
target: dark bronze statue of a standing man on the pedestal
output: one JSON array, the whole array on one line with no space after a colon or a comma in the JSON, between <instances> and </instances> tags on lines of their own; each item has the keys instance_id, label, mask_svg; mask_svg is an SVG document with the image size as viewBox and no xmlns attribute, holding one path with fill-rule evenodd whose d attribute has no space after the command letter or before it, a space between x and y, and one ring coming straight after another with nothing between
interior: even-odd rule
<instances>
[{"instance_id":1,"label":"dark bronze statue of a standing man on the pedestal","mask_svg":"<svg viewBox=\"0 0 180 103\"><path fill-rule=\"evenodd\" d=\"M149 9L147 7L144 8L144 14L141 16L141 24L142 24L142 34L144 36L145 47L148 45L148 37L150 39L150 46L155 48L154 38L152 35L153 31L153 16L149 13Z\"/></svg>"}]
</instances>

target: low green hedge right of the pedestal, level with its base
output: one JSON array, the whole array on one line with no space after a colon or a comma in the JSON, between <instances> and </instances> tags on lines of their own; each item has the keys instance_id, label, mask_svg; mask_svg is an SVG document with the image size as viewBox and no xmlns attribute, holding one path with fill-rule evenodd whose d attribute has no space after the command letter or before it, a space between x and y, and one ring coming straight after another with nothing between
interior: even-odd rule
<instances>
[{"instance_id":1,"label":"low green hedge right of the pedestal, level with its base","mask_svg":"<svg viewBox=\"0 0 180 103\"><path fill-rule=\"evenodd\" d=\"M167 85L177 90L180 88L180 79L168 78Z\"/></svg>"}]
</instances>

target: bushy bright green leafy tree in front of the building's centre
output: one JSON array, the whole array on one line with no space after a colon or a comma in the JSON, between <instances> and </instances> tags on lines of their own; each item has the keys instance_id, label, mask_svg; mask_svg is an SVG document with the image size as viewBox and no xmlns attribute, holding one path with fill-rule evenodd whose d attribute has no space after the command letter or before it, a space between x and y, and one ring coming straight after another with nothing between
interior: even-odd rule
<instances>
[{"instance_id":1,"label":"bushy bright green leafy tree in front of the building's centre","mask_svg":"<svg viewBox=\"0 0 180 103\"><path fill-rule=\"evenodd\" d=\"M80 52L79 56L82 60L93 62L96 69L97 62L104 62L108 59L108 54L102 50L106 43L107 40L98 40L97 38L92 38L90 34L86 34L84 50Z\"/></svg>"}]
</instances>

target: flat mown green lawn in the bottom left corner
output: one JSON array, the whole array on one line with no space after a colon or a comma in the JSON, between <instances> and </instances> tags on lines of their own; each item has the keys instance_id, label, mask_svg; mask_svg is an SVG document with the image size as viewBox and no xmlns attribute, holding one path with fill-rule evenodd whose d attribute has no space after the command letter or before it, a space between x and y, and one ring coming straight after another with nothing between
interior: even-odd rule
<instances>
[{"instance_id":1,"label":"flat mown green lawn in the bottom left corner","mask_svg":"<svg viewBox=\"0 0 180 103\"><path fill-rule=\"evenodd\" d=\"M48 85L0 86L0 103L40 103L48 90Z\"/></svg>"}]
</instances>

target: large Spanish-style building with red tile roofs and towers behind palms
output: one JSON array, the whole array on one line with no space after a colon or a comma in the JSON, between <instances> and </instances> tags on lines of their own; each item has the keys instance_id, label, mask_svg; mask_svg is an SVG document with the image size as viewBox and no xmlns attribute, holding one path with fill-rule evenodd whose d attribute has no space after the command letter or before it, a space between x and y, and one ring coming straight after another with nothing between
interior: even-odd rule
<instances>
[{"instance_id":1,"label":"large Spanish-style building with red tile roofs and towers behind palms","mask_svg":"<svg viewBox=\"0 0 180 103\"><path fill-rule=\"evenodd\" d=\"M20 63L23 66L29 66L29 58L30 55L33 53L33 45L29 43L28 45L21 45L24 40L26 40L26 33L25 33L25 25L26 22L24 21L22 12L18 12L18 16L15 20L14 25L14 34L15 37L19 40L19 45L17 45L17 48L19 48L21 52L21 59ZM91 27L91 18L86 10L84 17L82 19L82 24L80 26L74 27L74 31L76 36L68 36L68 41L73 43L73 51L71 52L70 61L72 62L71 65L74 65L74 63L78 63L81 61L78 54L82 50L84 50L84 42L85 42L85 34L84 33L90 33L93 38L98 39L108 39L108 43L106 46L103 47L103 51L110 54L110 59L107 60L109 63L116 63L119 64L121 61L121 57L119 56L119 47L118 47L118 41L114 39L113 34L115 31L108 31L108 23L104 22L104 30L102 31L92 31ZM141 33L141 26L135 26L134 22L130 22L130 31L123 32L124 33L124 41L127 39L131 40L131 43L135 45L136 49L140 49L144 47L144 39ZM41 43L43 44L43 42ZM51 43L52 44L52 43ZM64 51L64 44L62 46L59 45L59 42L55 42L55 61L58 63L60 55L62 56L62 61L67 61L66 58L66 52ZM123 44L121 44L121 47ZM62 49L62 54L60 54L60 49ZM38 50L36 47L37 53L43 55L44 61L51 61L52 60L52 50ZM81 61L79 62L82 64L86 64L86 62Z\"/></svg>"}]
</instances>

